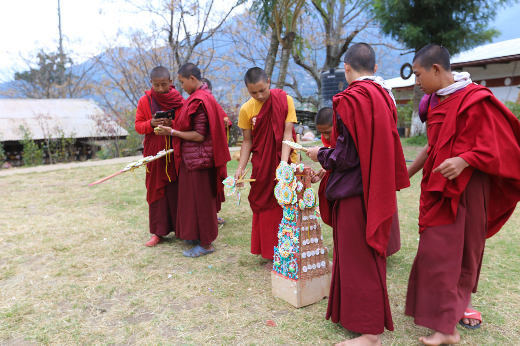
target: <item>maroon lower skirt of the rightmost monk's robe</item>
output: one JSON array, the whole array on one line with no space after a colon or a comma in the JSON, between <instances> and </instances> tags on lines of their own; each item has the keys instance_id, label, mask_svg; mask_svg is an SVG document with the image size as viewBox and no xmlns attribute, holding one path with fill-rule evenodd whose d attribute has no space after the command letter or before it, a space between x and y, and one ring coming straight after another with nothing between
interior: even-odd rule
<instances>
[{"instance_id":1,"label":"maroon lower skirt of the rightmost monk's robe","mask_svg":"<svg viewBox=\"0 0 520 346\"><path fill-rule=\"evenodd\" d=\"M461 193L455 222L420 234L408 282L406 310L415 324L453 334L477 292L487 236L489 176L474 170Z\"/></svg>"}]
</instances>

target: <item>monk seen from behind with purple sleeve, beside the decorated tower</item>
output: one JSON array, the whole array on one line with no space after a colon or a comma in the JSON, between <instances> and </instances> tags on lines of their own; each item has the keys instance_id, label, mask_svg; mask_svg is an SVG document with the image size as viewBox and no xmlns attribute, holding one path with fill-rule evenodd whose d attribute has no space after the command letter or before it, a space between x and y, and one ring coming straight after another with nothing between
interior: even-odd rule
<instances>
[{"instance_id":1,"label":"monk seen from behind with purple sleeve, beside the decorated tower","mask_svg":"<svg viewBox=\"0 0 520 346\"><path fill-rule=\"evenodd\" d=\"M332 226L332 282L326 319L362 334L336 345L381 345L394 330L386 289L386 254L396 191L410 186L397 133L397 110L375 52L358 43L345 53L348 88L334 96L331 148L307 155L327 174L320 211ZM324 190L324 195L323 195Z\"/></svg>"}]
</instances>

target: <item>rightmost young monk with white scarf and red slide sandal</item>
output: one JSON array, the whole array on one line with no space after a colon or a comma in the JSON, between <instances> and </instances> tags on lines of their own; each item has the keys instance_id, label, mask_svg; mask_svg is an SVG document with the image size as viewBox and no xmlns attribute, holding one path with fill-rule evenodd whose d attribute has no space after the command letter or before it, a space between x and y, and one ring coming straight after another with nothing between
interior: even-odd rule
<instances>
[{"instance_id":1,"label":"rightmost young monk with white scarf and red slide sandal","mask_svg":"<svg viewBox=\"0 0 520 346\"><path fill-rule=\"evenodd\" d=\"M453 344L460 340L459 321L468 327L482 322L470 299L486 238L520 200L520 123L469 73L452 73L443 46L421 49L412 68L426 93L420 115L428 145L409 169L413 175L424 167L406 314L435 330L419 338L424 344Z\"/></svg>"}]
</instances>

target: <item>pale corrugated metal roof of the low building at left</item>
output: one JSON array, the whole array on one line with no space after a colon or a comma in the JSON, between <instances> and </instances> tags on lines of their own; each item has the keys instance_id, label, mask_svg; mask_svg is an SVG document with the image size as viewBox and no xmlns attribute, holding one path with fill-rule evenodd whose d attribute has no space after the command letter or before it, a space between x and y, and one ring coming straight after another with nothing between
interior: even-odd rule
<instances>
[{"instance_id":1,"label":"pale corrugated metal roof of the low building at left","mask_svg":"<svg viewBox=\"0 0 520 346\"><path fill-rule=\"evenodd\" d=\"M27 127L34 140L43 140L44 131L38 124L38 115L50 116L49 129L60 127L67 136L74 138L108 137L99 133L96 122L89 116L104 116L105 112L92 100L82 99L0 99L0 140L22 139L20 125ZM122 136L128 132L112 122Z\"/></svg>"}]
</instances>

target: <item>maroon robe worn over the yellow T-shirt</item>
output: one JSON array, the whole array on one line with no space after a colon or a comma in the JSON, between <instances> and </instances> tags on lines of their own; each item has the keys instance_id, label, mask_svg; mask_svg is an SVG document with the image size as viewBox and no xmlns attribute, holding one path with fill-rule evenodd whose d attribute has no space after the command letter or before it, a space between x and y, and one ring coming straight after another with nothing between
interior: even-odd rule
<instances>
[{"instance_id":1,"label":"maroon robe worn over the yellow T-shirt","mask_svg":"<svg viewBox=\"0 0 520 346\"><path fill-rule=\"evenodd\" d=\"M278 229L282 219L282 207L276 200L274 190L288 110L287 94L280 89L271 89L251 131L251 178L256 179L251 183L248 197L253 211L251 253L266 259L272 259L275 255L274 247L278 244Z\"/></svg>"}]
</instances>

